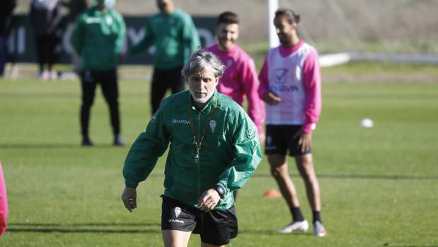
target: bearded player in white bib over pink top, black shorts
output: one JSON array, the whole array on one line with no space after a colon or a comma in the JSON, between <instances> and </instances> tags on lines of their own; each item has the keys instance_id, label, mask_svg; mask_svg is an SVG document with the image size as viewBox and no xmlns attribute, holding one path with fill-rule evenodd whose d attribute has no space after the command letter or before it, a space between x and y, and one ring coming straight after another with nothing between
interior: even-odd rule
<instances>
[{"instance_id":1,"label":"bearded player in white bib over pink top, black shorts","mask_svg":"<svg viewBox=\"0 0 438 247\"><path fill-rule=\"evenodd\" d=\"M319 184L311 154L312 130L321 113L321 70L318 52L296 34L298 23L299 16L292 10L279 9L275 13L274 25L281 45L268 52L260 71L259 94L266 103L265 154L292 214L292 222L279 232L309 229L289 176L289 150L306 185L313 211L313 234L325 236Z\"/></svg>"}]
</instances>

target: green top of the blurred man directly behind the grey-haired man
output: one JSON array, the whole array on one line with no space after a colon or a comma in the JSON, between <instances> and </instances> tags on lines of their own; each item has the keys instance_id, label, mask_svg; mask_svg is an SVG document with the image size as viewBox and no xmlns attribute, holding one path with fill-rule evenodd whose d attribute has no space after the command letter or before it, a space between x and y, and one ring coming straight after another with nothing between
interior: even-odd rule
<instances>
[{"instance_id":1,"label":"green top of the blurred man directly behind the grey-haired man","mask_svg":"<svg viewBox=\"0 0 438 247\"><path fill-rule=\"evenodd\" d=\"M170 14L160 12L148 18L144 38L129 47L128 53L142 52L151 45L155 45L154 67L173 69L183 67L201 42L190 15L175 9Z\"/></svg>"}]
</instances>

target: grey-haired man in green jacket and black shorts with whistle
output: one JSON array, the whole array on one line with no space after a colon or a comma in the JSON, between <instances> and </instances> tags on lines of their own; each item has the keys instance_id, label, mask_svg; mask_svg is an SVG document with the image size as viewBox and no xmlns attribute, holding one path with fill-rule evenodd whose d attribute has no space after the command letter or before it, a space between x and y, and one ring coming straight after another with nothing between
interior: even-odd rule
<instances>
[{"instance_id":1,"label":"grey-haired man in green jacket and black shorts with whistle","mask_svg":"<svg viewBox=\"0 0 438 247\"><path fill-rule=\"evenodd\" d=\"M137 185L170 143L161 212L165 246L187 246L192 231L212 246L237 236L233 192L253 175L262 156L250 117L216 91L224 69L212 52L195 52L182 72L189 90L163 100L127 155L122 200L132 212Z\"/></svg>"}]
</instances>

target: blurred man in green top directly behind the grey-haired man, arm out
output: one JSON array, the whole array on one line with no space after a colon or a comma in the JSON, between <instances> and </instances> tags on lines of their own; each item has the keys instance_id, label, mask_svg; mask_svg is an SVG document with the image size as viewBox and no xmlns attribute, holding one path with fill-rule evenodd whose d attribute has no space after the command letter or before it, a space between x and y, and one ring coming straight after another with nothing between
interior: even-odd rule
<instances>
[{"instance_id":1,"label":"blurred man in green top directly behind the grey-haired man, arm out","mask_svg":"<svg viewBox=\"0 0 438 247\"><path fill-rule=\"evenodd\" d=\"M155 45L152 113L159 108L169 88L172 93L184 90L181 69L190 54L201 45L195 24L188 13L175 8L173 0L157 0L156 4L160 12L147 19L146 35L128 50L128 54L132 55Z\"/></svg>"}]
</instances>

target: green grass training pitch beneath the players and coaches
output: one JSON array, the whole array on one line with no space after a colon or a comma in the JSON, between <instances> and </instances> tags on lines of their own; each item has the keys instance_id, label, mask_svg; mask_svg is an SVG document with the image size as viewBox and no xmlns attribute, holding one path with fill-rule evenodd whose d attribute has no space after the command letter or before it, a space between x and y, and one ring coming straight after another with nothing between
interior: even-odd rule
<instances>
[{"instance_id":1,"label":"green grass training pitch beneath the players and coaches","mask_svg":"<svg viewBox=\"0 0 438 247\"><path fill-rule=\"evenodd\" d=\"M0 80L0 159L8 189L8 231L0 246L162 246L161 158L138 189L138 209L123 207L122 163L150 118L149 84L120 82L125 148L110 144L100 89L91 139L79 134L79 82ZM358 126L364 117L375 126ZM266 159L239 193L239 235L229 246L438 246L438 84L323 85L313 134L321 183L324 239L276 234L290 221ZM307 219L304 185L290 166ZM311 230L311 229L310 229ZM193 235L190 246L200 246Z\"/></svg>"}]
</instances>

